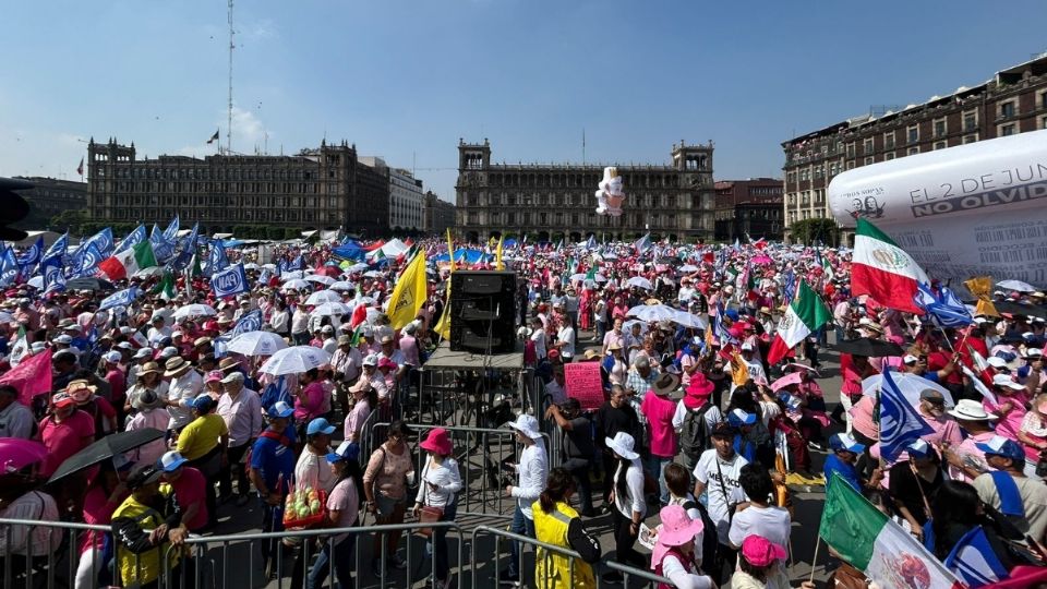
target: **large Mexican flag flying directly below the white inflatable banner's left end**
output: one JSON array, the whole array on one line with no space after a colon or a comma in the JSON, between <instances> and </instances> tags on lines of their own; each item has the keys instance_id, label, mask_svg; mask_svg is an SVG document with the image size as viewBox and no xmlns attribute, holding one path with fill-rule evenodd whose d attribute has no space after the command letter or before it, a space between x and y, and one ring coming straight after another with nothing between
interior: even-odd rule
<instances>
[{"instance_id":1,"label":"large Mexican flag flying directly below the white inflatable banner's left end","mask_svg":"<svg viewBox=\"0 0 1047 589\"><path fill-rule=\"evenodd\" d=\"M858 218L851 265L851 294L868 294L876 302L923 315L916 306L918 283L930 284L930 278L916 262L891 238L871 223Z\"/></svg>"}]
</instances>

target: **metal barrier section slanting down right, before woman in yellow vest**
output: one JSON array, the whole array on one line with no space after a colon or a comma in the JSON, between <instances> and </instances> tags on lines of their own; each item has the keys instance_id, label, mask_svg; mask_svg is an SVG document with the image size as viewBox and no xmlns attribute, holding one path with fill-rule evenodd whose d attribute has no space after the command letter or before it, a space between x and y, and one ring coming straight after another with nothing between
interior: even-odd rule
<instances>
[{"instance_id":1,"label":"metal barrier section slanting down right, before woman in yellow vest","mask_svg":"<svg viewBox=\"0 0 1047 589\"><path fill-rule=\"evenodd\" d=\"M485 554L477 553L478 549L480 549L481 546L489 545L489 544L482 544L481 542L478 541L478 538L480 538L481 536L494 537L493 557L488 557ZM535 562L534 562L534 566L531 566L531 567L524 566L525 565L524 551L520 550L519 552L520 562L517 563L518 565L517 570L519 572L519 575L520 575L519 580L522 585L526 585L529 587L535 587L537 589L573 589L575 586L575 582L574 582L575 567L581 566L580 563L582 561L581 561L581 555L570 549L565 549L563 546L557 546L554 544L547 544L545 542L540 542L528 536L520 536L518 533L514 533L514 532L497 529L497 528L492 528L490 526L478 526L476 529L472 530L470 538L471 538L472 553L470 554L469 561L472 563L471 587L473 588L495 587L497 585L498 570L501 568L501 566L498 566L501 563L500 557L502 555L501 544L503 540L510 541L510 542L519 542L521 544L532 546L534 550ZM538 553L539 549L541 549L541 555L539 555ZM538 565L543 564L544 566L541 567L541 569L544 572L553 570L554 556L559 556L568 560L568 570L567 570L568 578L566 581L557 582L556 578L550 577L547 574L542 578L538 578L539 570L540 570ZM539 563L538 558L542 558L542 562ZM484 563L492 563L492 566L486 569L485 574L482 572ZM675 587L675 585L673 585L673 582L667 578L661 577L659 575L654 575L649 570L641 570L639 568L625 566L607 560L601 561L601 563L609 569L616 570L622 574L623 580L624 580L624 587L634 587L634 585L629 584L630 578L641 579L642 581L646 581L645 586L657 586L658 584L665 584L669 587ZM599 567L597 565L587 565L587 566L592 566L593 577L594 577L597 587L600 587L601 585L605 585L601 582L602 579L598 572ZM526 582L526 575L524 574L525 570L534 570L534 575L533 575L534 578L532 579L532 582Z\"/></svg>"}]
</instances>

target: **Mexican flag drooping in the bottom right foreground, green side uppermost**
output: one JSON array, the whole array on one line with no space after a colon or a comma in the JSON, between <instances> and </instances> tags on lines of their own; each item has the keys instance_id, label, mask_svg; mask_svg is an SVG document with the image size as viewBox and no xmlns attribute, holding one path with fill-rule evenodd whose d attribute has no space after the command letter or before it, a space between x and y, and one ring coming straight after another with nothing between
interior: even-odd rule
<instances>
[{"instance_id":1,"label":"Mexican flag drooping in the bottom right foreground, green side uppermost","mask_svg":"<svg viewBox=\"0 0 1047 589\"><path fill-rule=\"evenodd\" d=\"M829 481L818 536L879 587L963 587L923 544L839 474Z\"/></svg>"}]
</instances>

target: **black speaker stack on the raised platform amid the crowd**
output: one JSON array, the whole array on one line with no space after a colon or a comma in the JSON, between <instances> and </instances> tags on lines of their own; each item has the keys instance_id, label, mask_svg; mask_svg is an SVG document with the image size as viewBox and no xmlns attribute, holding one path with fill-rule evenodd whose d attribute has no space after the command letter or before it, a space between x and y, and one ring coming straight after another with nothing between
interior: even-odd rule
<instances>
[{"instance_id":1,"label":"black speaker stack on the raised platform amid the crowd","mask_svg":"<svg viewBox=\"0 0 1047 589\"><path fill-rule=\"evenodd\" d=\"M458 271L450 275L452 350L516 351L515 317L515 272Z\"/></svg>"}]
</instances>

